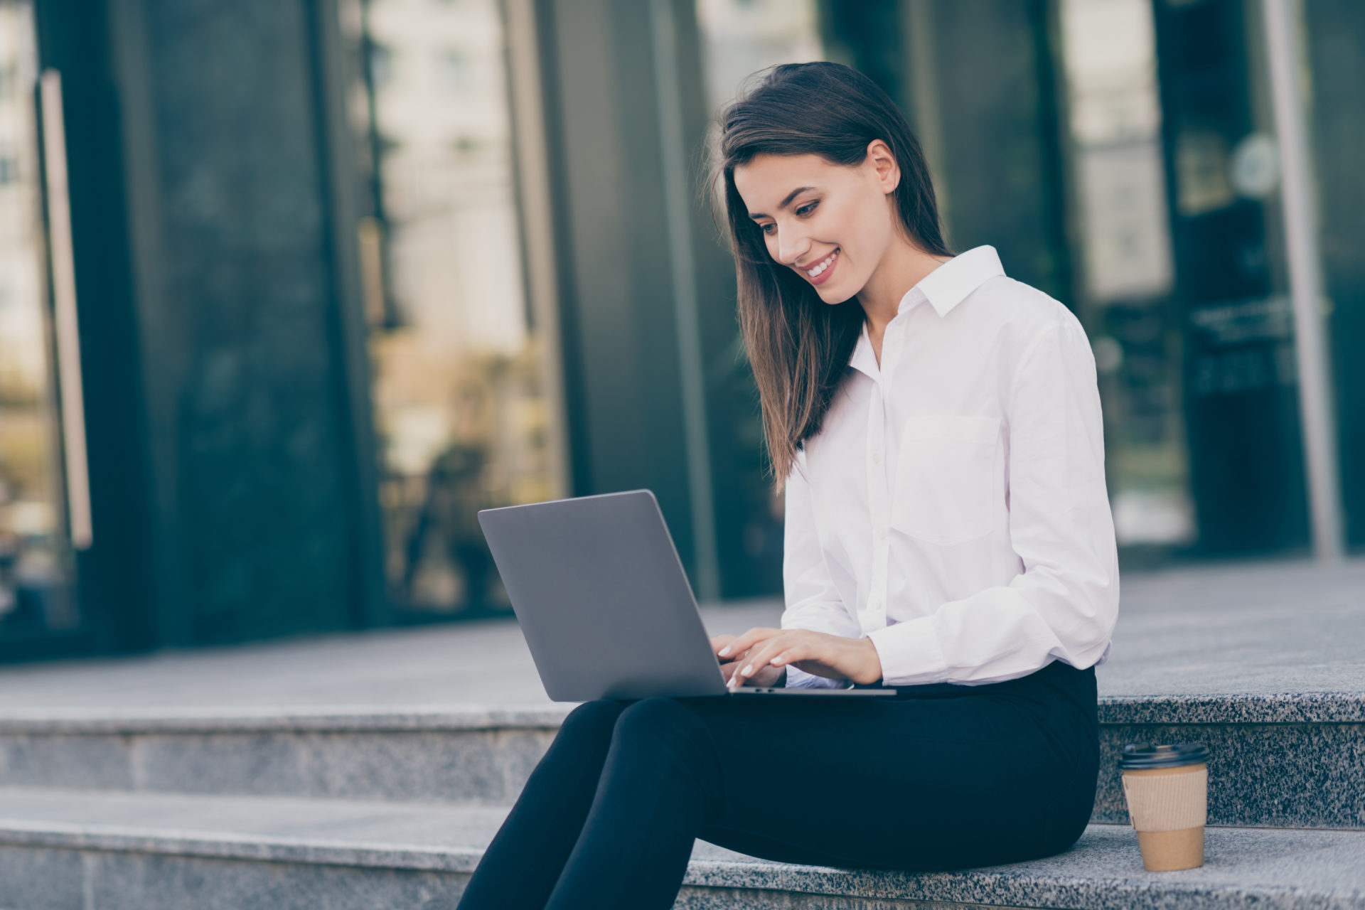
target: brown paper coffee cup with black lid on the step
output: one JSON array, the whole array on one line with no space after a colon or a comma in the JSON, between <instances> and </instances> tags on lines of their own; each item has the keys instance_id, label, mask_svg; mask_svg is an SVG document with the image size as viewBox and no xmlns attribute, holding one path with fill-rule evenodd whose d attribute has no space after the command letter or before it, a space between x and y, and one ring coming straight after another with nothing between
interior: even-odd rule
<instances>
[{"instance_id":1,"label":"brown paper coffee cup with black lid on the step","mask_svg":"<svg viewBox=\"0 0 1365 910\"><path fill-rule=\"evenodd\" d=\"M1148 872L1204 865L1208 749L1193 742L1123 746L1123 798Z\"/></svg>"}]
</instances>

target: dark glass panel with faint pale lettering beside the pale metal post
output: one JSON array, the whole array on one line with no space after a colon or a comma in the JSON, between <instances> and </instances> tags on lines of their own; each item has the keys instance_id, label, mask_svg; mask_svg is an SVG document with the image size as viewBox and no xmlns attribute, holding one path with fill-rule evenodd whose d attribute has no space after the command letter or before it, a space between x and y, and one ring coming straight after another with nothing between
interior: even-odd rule
<instances>
[{"instance_id":1,"label":"dark glass panel with faint pale lettering beside the pale metal post","mask_svg":"<svg viewBox=\"0 0 1365 910\"><path fill-rule=\"evenodd\" d=\"M1283 244L1271 243L1278 214L1235 195L1227 177L1235 145L1268 128L1252 104L1244 7L1155 11L1197 548L1302 550L1308 501Z\"/></svg>"}]
</instances>

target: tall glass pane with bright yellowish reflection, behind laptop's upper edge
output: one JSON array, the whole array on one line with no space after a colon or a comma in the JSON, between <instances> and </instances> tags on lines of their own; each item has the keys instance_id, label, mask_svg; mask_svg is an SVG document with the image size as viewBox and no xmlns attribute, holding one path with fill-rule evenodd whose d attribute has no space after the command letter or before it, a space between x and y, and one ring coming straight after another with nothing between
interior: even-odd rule
<instances>
[{"instance_id":1,"label":"tall glass pane with bright yellowish reflection, behind laptop's upper edge","mask_svg":"<svg viewBox=\"0 0 1365 910\"><path fill-rule=\"evenodd\" d=\"M494 0L345 0L390 598L505 610L479 509L562 494Z\"/></svg>"}]
</instances>

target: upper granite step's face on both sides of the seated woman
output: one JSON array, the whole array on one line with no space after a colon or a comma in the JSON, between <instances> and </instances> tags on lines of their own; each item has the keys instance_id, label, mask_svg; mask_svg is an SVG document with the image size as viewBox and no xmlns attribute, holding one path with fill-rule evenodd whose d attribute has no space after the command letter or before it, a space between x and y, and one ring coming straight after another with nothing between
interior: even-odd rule
<instances>
[{"instance_id":1,"label":"upper granite step's face on both sides of the seated woman","mask_svg":"<svg viewBox=\"0 0 1365 910\"><path fill-rule=\"evenodd\" d=\"M568 704L0 716L0 787L511 805ZM1127 824L1127 742L1211 749L1211 824L1365 830L1365 697L1100 701L1092 820Z\"/></svg>"}]
</instances>

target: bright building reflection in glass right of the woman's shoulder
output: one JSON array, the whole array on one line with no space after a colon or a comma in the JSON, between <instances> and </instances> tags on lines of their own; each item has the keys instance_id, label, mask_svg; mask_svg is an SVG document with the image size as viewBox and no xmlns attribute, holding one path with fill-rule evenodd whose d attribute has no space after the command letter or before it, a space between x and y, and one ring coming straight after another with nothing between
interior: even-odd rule
<instances>
[{"instance_id":1,"label":"bright building reflection in glass right of the woman's shoulder","mask_svg":"<svg viewBox=\"0 0 1365 910\"><path fill-rule=\"evenodd\" d=\"M1104 398L1114 529L1119 544L1183 544L1194 523L1151 3L1063 0L1059 14L1078 308Z\"/></svg>"}]
</instances>

